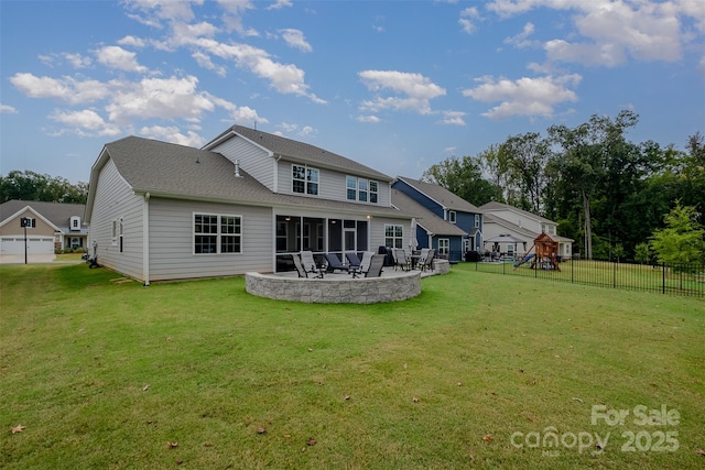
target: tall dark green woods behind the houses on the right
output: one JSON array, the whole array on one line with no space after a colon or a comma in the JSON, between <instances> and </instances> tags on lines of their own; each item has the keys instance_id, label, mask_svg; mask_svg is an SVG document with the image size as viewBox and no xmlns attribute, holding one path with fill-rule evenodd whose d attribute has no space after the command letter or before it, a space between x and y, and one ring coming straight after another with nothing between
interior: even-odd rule
<instances>
[{"instance_id":1,"label":"tall dark green woods behind the houses on the right","mask_svg":"<svg viewBox=\"0 0 705 470\"><path fill-rule=\"evenodd\" d=\"M691 135L685 150L636 143L627 133L638 121L623 110L574 128L551 125L545 135L510 135L475 156L432 165L422 179L477 206L496 200L554 220L583 258L634 259L676 205L688 208L695 229L705 206L705 138Z\"/></svg>"}]
</instances>

